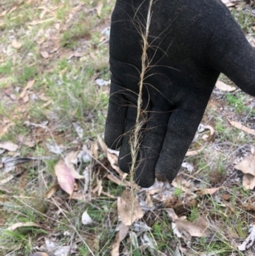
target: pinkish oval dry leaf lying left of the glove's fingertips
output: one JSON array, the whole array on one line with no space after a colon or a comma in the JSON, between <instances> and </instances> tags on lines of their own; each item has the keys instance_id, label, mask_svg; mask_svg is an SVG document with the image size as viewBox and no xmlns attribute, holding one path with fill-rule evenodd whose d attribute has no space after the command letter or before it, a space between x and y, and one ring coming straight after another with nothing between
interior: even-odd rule
<instances>
[{"instance_id":1,"label":"pinkish oval dry leaf lying left of the glove's fingertips","mask_svg":"<svg viewBox=\"0 0 255 256\"><path fill-rule=\"evenodd\" d=\"M63 160L59 160L54 169L59 186L61 186L62 190L71 195L75 189L75 178L72 176L71 170Z\"/></svg>"}]
</instances>

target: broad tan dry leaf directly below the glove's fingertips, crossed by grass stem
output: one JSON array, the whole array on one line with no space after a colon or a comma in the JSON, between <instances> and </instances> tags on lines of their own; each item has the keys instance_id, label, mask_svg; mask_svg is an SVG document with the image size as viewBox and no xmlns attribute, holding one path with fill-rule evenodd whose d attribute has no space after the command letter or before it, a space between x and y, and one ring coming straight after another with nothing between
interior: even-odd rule
<instances>
[{"instance_id":1,"label":"broad tan dry leaf directly below the glove's fingertips, crossed by grass stem","mask_svg":"<svg viewBox=\"0 0 255 256\"><path fill-rule=\"evenodd\" d=\"M123 192L122 197L118 197L117 208L120 220L126 226L131 225L133 222L136 222L136 220L143 217L143 211L138 197L132 195L131 190L126 189Z\"/></svg>"}]
</instances>

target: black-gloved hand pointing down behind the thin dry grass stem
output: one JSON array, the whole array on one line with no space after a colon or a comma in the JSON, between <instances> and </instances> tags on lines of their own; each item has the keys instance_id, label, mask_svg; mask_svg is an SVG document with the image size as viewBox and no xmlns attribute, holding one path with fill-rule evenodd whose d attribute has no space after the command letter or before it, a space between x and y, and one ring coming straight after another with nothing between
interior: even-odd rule
<instances>
[{"instance_id":1,"label":"black-gloved hand pointing down behind the thin dry grass stem","mask_svg":"<svg viewBox=\"0 0 255 256\"><path fill-rule=\"evenodd\" d=\"M119 166L129 172L129 137L136 120L142 36L149 0L117 0L110 32L112 83L105 141L120 147ZM172 181L200 124L222 72L255 96L255 50L220 0L154 0L149 66L135 179Z\"/></svg>"}]
</instances>

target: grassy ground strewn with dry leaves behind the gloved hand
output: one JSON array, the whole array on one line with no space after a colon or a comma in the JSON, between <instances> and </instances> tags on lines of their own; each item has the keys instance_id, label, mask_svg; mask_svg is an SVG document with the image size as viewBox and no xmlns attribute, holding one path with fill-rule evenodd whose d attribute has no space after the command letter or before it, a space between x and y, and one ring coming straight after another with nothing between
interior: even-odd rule
<instances>
[{"instance_id":1,"label":"grassy ground strewn with dry leaves behind the gloved hand","mask_svg":"<svg viewBox=\"0 0 255 256\"><path fill-rule=\"evenodd\" d=\"M252 10L224 3L254 43ZM255 100L223 76L177 179L135 188L125 215L129 177L101 139L113 4L1 0L0 255L254 255L238 246L254 239Z\"/></svg>"}]
</instances>

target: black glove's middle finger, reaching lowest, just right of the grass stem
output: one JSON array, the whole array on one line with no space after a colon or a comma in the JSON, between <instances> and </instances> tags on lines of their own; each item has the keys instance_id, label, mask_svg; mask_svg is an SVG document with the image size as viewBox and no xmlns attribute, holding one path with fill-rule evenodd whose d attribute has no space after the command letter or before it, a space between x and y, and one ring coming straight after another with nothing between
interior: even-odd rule
<instances>
[{"instance_id":1,"label":"black glove's middle finger, reaching lowest, just right of the grass stem","mask_svg":"<svg viewBox=\"0 0 255 256\"><path fill-rule=\"evenodd\" d=\"M155 181L155 168L164 142L171 112L155 108L149 113L146 130L139 151L135 181L143 188L149 188Z\"/></svg>"}]
</instances>

